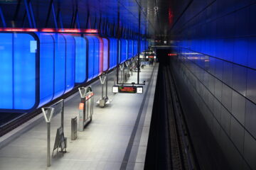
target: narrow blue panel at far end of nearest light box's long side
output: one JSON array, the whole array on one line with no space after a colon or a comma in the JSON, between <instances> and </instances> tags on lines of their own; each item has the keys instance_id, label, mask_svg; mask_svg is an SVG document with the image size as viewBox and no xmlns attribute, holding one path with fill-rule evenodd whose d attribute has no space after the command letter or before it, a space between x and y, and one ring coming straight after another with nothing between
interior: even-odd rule
<instances>
[{"instance_id":1,"label":"narrow blue panel at far end of nearest light box's long side","mask_svg":"<svg viewBox=\"0 0 256 170\"><path fill-rule=\"evenodd\" d=\"M71 35L64 35L64 38L66 43L65 93L67 93L75 86L75 38Z\"/></svg>"}]
</instances>

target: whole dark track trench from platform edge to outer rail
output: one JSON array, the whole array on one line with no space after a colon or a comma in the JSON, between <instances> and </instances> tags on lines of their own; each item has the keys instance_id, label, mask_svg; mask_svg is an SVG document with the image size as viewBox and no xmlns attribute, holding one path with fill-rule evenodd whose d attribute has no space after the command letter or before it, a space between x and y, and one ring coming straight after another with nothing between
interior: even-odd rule
<instances>
[{"instance_id":1,"label":"whole dark track trench from platform edge to outer rail","mask_svg":"<svg viewBox=\"0 0 256 170\"><path fill-rule=\"evenodd\" d=\"M199 169L169 64L161 65L144 169Z\"/></svg>"}]
</instances>

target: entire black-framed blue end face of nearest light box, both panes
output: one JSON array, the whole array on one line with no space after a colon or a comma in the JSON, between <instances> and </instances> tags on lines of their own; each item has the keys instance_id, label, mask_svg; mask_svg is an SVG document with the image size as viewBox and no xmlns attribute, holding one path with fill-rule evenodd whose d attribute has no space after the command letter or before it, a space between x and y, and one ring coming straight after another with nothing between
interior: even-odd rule
<instances>
[{"instance_id":1,"label":"entire black-framed blue end face of nearest light box, both panes","mask_svg":"<svg viewBox=\"0 0 256 170\"><path fill-rule=\"evenodd\" d=\"M0 109L29 110L36 105L36 51L32 35L0 34Z\"/></svg>"}]
</instances>

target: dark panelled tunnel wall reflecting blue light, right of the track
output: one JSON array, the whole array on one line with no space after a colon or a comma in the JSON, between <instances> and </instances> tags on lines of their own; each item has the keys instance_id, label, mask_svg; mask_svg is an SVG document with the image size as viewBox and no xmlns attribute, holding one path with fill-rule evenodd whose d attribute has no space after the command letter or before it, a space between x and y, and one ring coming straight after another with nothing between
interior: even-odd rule
<instances>
[{"instance_id":1,"label":"dark panelled tunnel wall reflecting blue light, right of the track","mask_svg":"<svg viewBox=\"0 0 256 170\"><path fill-rule=\"evenodd\" d=\"M205 1L193 14L176 28L175 67L232 169L256 169L256 4Z\"/></svg>"}]
</instances>

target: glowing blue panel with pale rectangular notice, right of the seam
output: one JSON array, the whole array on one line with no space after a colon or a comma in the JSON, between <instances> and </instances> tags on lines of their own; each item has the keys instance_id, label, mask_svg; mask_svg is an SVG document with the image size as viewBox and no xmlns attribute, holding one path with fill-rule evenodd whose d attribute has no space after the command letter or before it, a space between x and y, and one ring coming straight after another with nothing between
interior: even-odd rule
<instances>
[{"instance_id":1,"label":"glowing blue panel with pale rectangular notice, right of the seam","mask_svg":"<svg viewBox=\"0 0 256 170\"><path fill-rule=\"evenodd\" d=\"M36 43L29 34L14 35L14 109L36 103Z\"/></svg>"}]
</instances>

